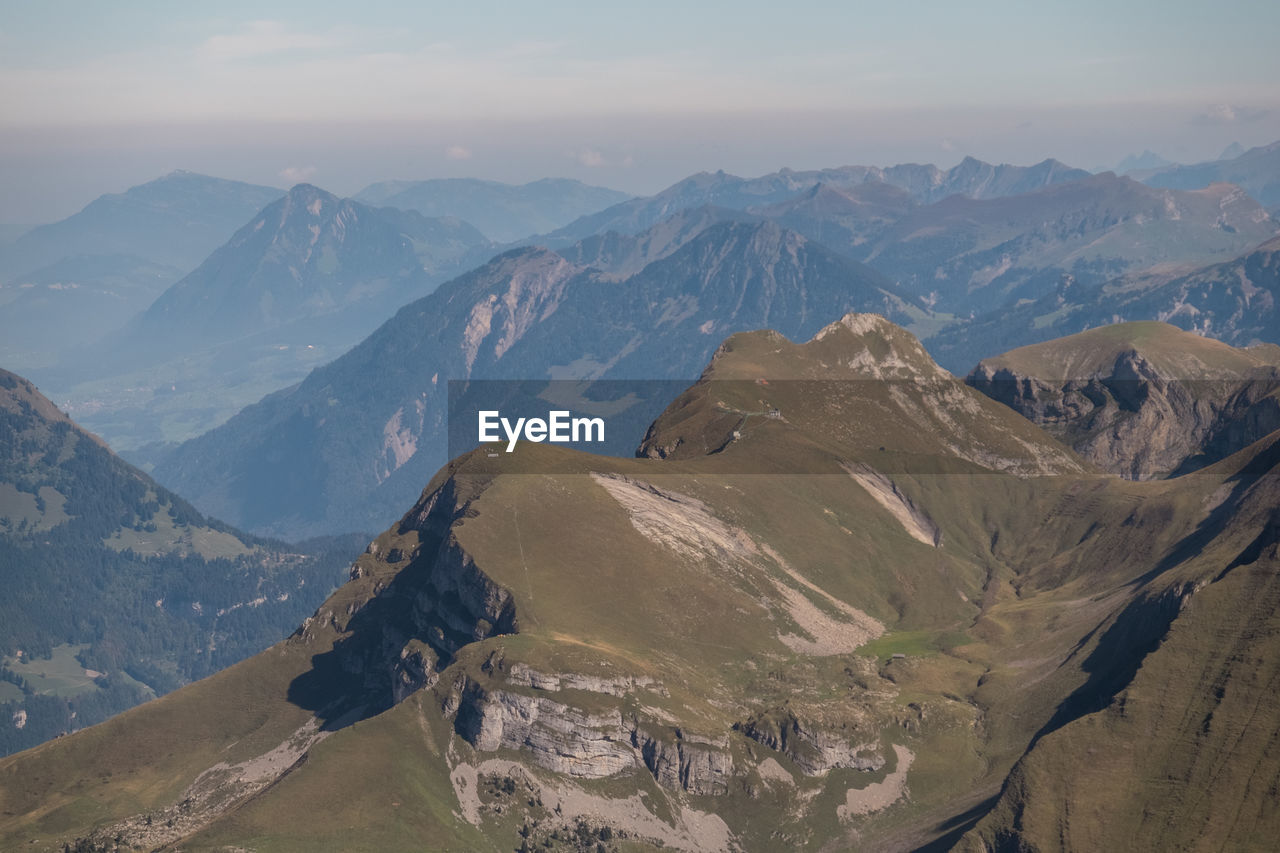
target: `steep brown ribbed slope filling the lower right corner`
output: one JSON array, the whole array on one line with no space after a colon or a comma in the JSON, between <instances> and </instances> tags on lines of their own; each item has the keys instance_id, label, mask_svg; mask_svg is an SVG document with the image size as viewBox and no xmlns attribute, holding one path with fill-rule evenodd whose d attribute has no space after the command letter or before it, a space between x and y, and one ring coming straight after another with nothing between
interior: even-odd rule
<instances>
[{"instance_id":1,"label":"steep brown ribbed slope filling the lower right corner","mask_svg":"<svg viewBox=\"0 0 1280 853\"><path fill-rule=\"evenodd\" d=\"M1123 654L1140 666L1112 701L1034 744L969 848L1270 847L1280 833L1277 451L1272 437L1183 478L1225 483L1229 520L1172 552L1138 590L1138 619L1105 624L1080 649L1085 669L1105 672L1102 661Z\"/></svg>"}]
</instances>

